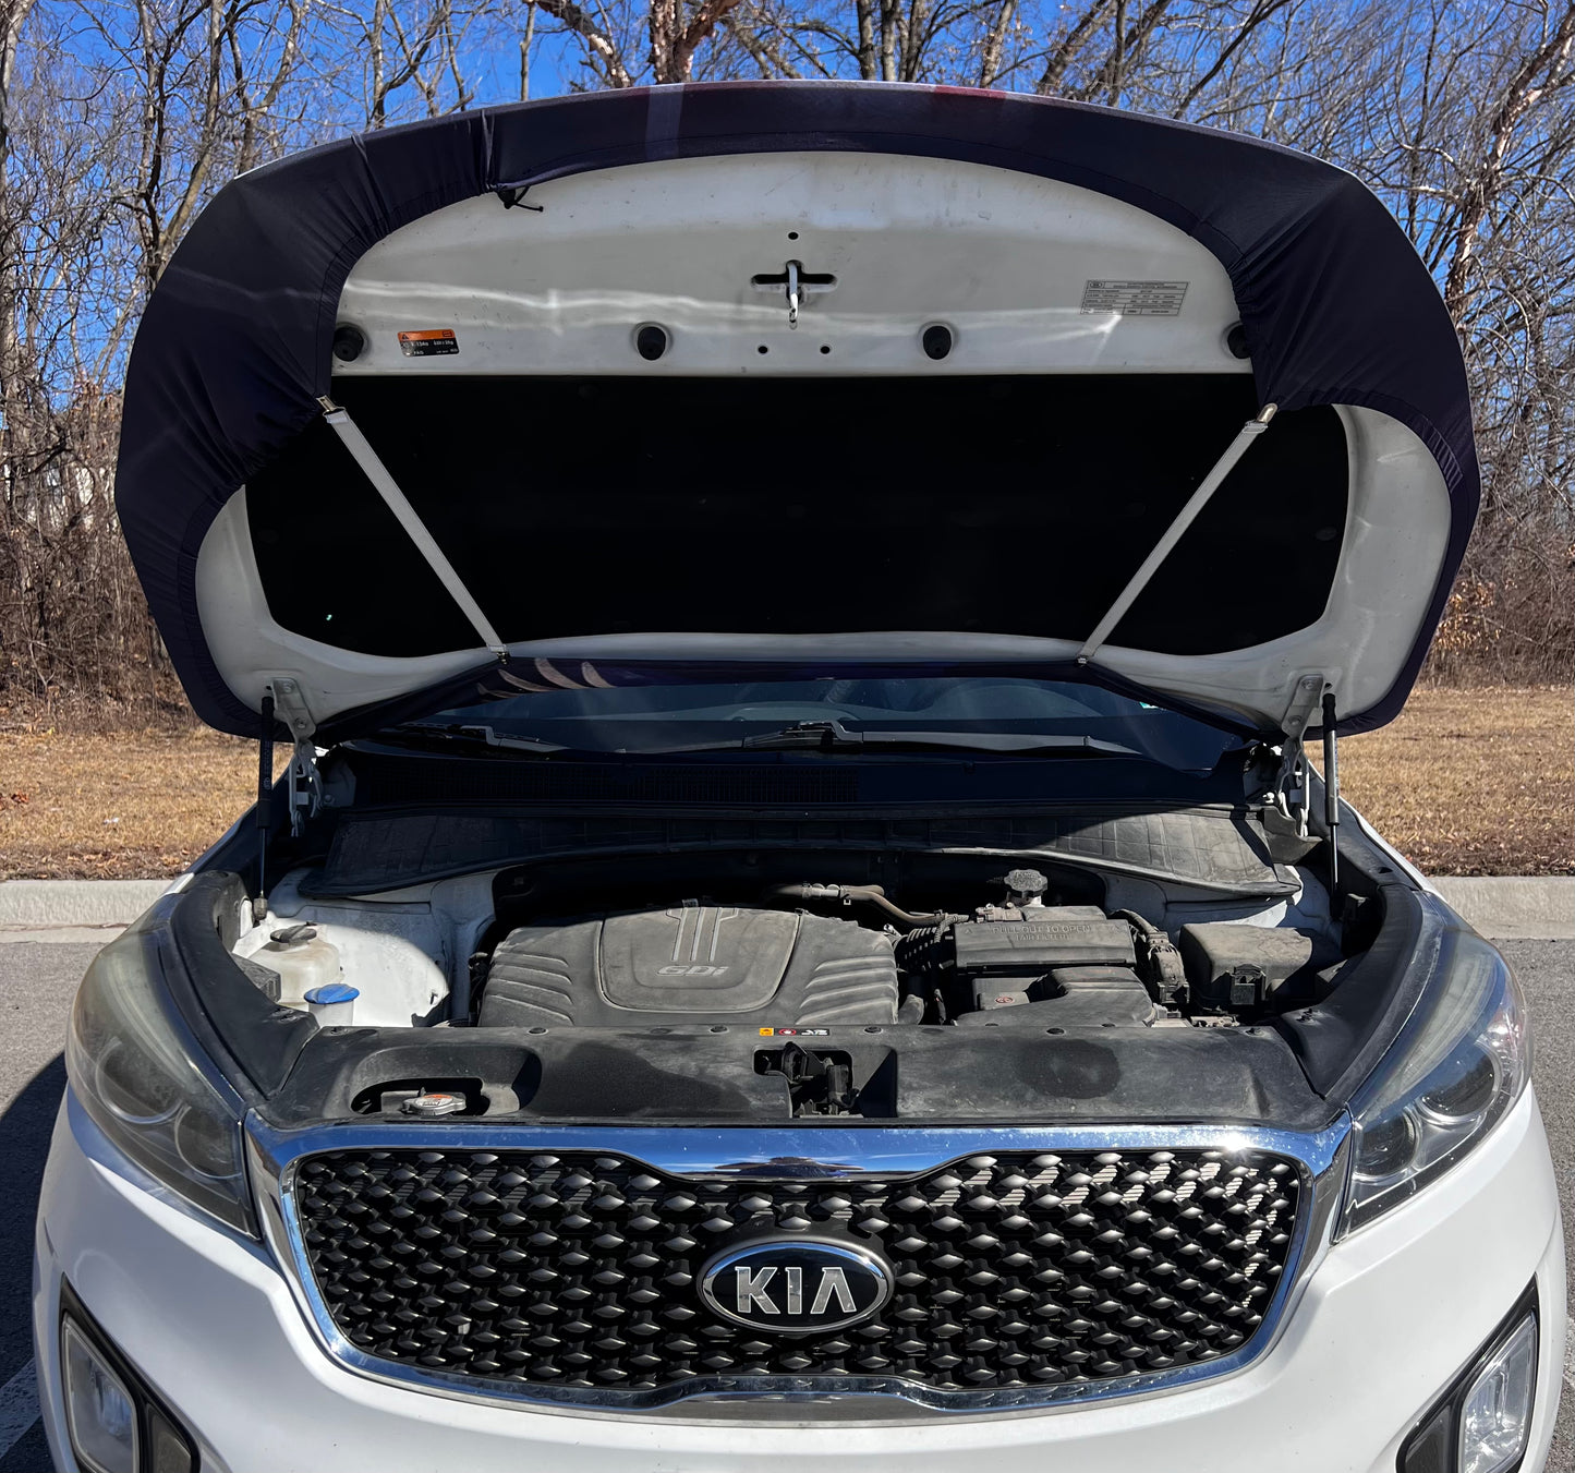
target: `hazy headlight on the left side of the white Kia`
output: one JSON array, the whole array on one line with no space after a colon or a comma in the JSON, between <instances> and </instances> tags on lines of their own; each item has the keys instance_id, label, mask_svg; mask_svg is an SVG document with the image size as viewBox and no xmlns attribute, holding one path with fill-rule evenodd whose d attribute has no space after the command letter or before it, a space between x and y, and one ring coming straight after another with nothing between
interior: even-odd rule
<instances>
[{"instance_id":1,"label":"hazy headlight on the left side of the white Kia","mask_svg":"<svg viewBox=\"0 0 1575 1473\"><path fill-rule=\"evenodd\" d=\"M135 926L93 959L66 1033L71 1087L99 1130L172 1191L255 1232L243 1106L164 986L158 937Z\"/></svg>"}]
</instances>

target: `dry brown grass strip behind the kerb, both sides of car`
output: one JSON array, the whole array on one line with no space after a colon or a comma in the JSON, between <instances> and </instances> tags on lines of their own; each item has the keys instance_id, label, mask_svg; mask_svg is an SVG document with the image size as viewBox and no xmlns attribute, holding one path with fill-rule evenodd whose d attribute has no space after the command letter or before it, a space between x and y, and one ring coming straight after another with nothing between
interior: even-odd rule
<instances>
[{"instance_id":1,"label":"dry brown grass strip behind the kerb, both sides of car","mask_svg":"<svg viewBox=\"0 0 1575 1473\"><path fill-rule=\"evenodd\" d=\"M1340 744L1345 792L1433 874L1575 871L1575 692L1419 690ZM250 803L257 747L206 729L0 731L0 879L180 873Z\"/></svg>"}]
</instances>

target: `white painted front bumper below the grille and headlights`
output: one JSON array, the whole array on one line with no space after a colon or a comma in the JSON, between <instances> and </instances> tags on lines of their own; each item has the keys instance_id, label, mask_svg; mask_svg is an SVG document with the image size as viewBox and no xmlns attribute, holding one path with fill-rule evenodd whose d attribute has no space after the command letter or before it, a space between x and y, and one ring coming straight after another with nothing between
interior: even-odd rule
<instances>
[{"instance_id":1,"label":"white painted front bumper below the grille and headlights","mask_svg":"<svg viewBox=\"0 0 1575 1473\"><path fill-rule=\"evenodd\" d=\"M868 1473L1101 1473L1210 1467L1383 1470L1416 1419L1536 1279L1542 1344L1537 1473L1564 1360L1564 1248L1536 1100L1418 1199L1334 1245L1277 1344L1246 1369L1173 1391L1014 1415L794 1421L734 1404L704 1416L524 1410L367 1380L329 1360L268 1249L139 1178L66 1096L39 1207L35 1336L57 1465L60 1281L184 1419L205 1473L754 1473L795 1462ZM882 1408L884 1410L884 1408Z\"/></svg>"}]
</instances>

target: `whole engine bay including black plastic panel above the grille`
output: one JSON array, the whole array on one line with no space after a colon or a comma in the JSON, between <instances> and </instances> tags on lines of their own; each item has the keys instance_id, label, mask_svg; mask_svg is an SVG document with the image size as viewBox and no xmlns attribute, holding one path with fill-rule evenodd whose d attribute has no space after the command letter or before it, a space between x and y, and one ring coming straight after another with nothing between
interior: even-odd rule
<instances>
[{"instance_id":1,"label":"whole engine bay including black plastic panel above the grille","mask_svg":"<svg viewBox=\"0 0 1575 1473\"><path fill-rule=\"evenodd\" d=\"M1334 914L1295 862L1276 887L1022 851L696 843L359 893L302 865L261 914L214 873L175 915L280 1128L1307 1128L1400 986L1410 892L1353 870Z\"/></svg>"}]
</instances>

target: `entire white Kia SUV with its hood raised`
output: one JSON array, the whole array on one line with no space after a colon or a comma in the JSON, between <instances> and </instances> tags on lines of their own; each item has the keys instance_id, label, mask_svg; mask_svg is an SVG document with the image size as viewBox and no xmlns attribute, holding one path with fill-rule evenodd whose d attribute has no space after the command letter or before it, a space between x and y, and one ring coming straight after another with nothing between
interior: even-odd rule
<instances>
[{"instance_id":1,"label":"entire white Kia SUV with its hood raised","mask_svg":"<svg viewBox=\"0 0 1575 1473\"><path fill-rule=\"evenodd\" d=\"M1542 1467L1520 993L1339 799L1477 501L1350 175L841 83L348 139L180 247L117 501L260 785L77 997L60 1468Z\"/></svg>"}]
</instances>

